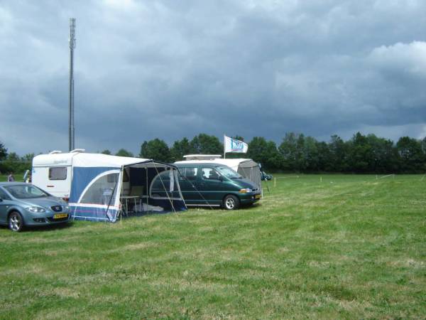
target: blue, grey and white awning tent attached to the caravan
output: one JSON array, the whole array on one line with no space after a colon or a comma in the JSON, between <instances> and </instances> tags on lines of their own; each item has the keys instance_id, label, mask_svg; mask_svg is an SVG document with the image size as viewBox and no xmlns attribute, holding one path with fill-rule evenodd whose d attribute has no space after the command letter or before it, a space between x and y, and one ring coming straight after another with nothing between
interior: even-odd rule
<instances>
[{"instance_id":1,"label":"blue, grey and white awning tent attached to the caravan","mask_svg":"<svg viewBox=\"0 0 426 320\"><path fill-rule=\"evenodd\" d=\"M129 209L128 199L136 204L135 211L185 210L177 172L173 165L150 159L77 154L72 158L72 216L115 222L124 202Z\"/></svg>"}]
</instances>

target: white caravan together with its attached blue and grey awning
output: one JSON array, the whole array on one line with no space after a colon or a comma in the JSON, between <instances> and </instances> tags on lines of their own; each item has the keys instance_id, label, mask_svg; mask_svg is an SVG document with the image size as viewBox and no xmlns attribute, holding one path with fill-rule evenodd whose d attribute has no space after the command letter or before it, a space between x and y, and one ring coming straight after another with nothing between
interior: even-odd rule
<instances>
[{"instance_id":1,"label":"white caravan together with its attached blue and grey awning","mask_svg":"<svg viewBox=\"0 0 426 320\"><path fill-rule=\"evenodd\" d=\"M120 212L186 208L176 166L151 159L53 151L34 157L32 176L35 186L67 198L75 219L114 222Z\"/></svg>"}]
</instances>

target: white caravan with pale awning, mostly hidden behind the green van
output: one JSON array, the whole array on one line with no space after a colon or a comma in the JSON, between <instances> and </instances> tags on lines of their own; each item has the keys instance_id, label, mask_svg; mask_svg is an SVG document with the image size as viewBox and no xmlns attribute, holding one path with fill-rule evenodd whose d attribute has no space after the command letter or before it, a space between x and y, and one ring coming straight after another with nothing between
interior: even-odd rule
<instances>
[{"instance_id":1,"label":"white caravan with pale awning, mostly hidden behind the green van","mask_svg":"<svg viewBox=\"0 0 426 320\"><path fill-rule=\"evenodd\" d=\"M187 154L183 156L184 161L176 161L175 164L224 164L238 172L244 178L256 183L262 190L261 168L260 165L252 159L222 159L220 154Z\"/></svg>"}]
</instances>

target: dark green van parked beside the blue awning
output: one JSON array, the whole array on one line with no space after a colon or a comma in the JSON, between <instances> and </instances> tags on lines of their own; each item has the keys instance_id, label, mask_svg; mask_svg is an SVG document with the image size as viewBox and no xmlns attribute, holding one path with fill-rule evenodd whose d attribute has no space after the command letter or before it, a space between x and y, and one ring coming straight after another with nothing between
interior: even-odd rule
<instances>
[{"instance_id":1,"label":"dark green van parked beside the blue awning","mask_svg":"<svg viewBox=\"0 0 426 320\"><path fill-rule=\"evenodd\" d=\"M197 162L175 165L180 171L179 185L187 206L222 206L226 210L234 210L262 197L255 183L224 164ZM155 183L160 181L154 180L153 188Z\"/></svg>"}]
</instances>

